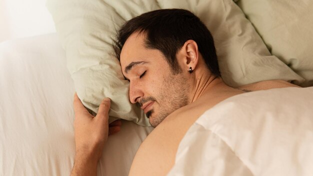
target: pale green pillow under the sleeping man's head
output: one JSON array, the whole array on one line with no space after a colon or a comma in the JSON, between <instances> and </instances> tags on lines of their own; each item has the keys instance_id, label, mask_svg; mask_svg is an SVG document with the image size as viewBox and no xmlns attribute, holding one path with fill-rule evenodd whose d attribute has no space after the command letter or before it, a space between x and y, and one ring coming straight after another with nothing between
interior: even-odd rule
<instances>
[{"instance_id":1,"label":"pale green pillow under the sleeping man's head","mask_svg":"<svg viewBox=\"0 0 313 176\"><path fill-rule=\"evenodd\" d=\"M203 20L215 39L221 75L227 84L302 80L270 55L232 0L48 0L47 7L66 51L77 94L93 112L107 96L112 99L111 117L148 124L139 107L129 102L128 81L111 43L126 20L159 8L185 8Z\"/></svg>"}]
</instances>

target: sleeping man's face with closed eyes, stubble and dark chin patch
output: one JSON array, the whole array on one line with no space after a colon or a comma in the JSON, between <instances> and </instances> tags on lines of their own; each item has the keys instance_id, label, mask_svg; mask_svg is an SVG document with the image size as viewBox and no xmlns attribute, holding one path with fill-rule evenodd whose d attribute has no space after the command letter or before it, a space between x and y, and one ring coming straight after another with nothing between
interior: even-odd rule
<instances>
[{"instance_id":1,"label":"sleeping man's face with closed eyes, stubble and dark chin patch","mask_svg":"<svg viewBox=\"0 0 313 176\"><path fill-rule=\"evenodd\" d=\"M128 37L120 53L120 65L130 81L130 102L140 104L152 126L188 104L190 85L186 74L174 75L159 50L145 48L144 34Z\"/></svg>"}]
</instances>

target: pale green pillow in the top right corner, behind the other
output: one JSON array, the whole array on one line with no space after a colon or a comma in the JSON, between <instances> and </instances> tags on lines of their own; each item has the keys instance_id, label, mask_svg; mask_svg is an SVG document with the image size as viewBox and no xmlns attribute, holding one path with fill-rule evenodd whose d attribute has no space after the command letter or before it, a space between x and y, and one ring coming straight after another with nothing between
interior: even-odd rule
<instances>
[{"instance_id":1,"label":"pale green pillow in the top right corner, behind the other","mask_svg":"<svg viewBox=\"0 0 313 176\"><path fill-rule=\"evenodd\" d=\"M313 85L313 1L239 0L273 55L305 78L295 82Z\"/></svg>"}]
</instances>

